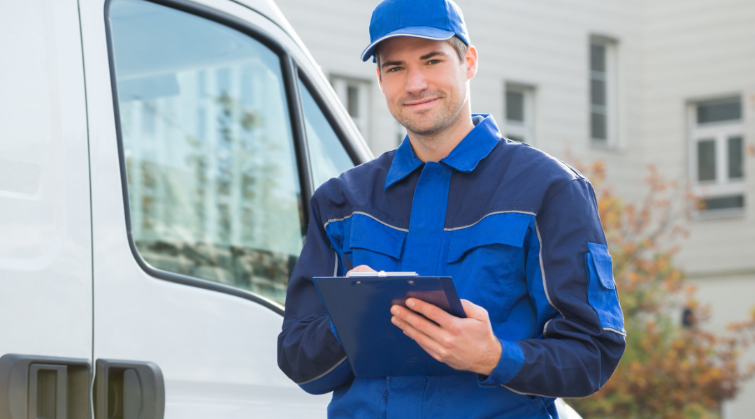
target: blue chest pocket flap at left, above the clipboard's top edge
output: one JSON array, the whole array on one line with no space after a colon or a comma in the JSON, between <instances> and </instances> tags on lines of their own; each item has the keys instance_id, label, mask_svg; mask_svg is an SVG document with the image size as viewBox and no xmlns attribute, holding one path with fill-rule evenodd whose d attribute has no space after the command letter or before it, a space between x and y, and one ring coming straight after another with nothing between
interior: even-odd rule
<instances>
[{"instance_id":1,"label":"blue chest pocket flap at left, above the clipboard's top edge","mask_svg":"<svg viewBox=\"0 0 755 419\"><path fill-rule=\"evenodd\" d=\"M350 246L368 249L398 259L406 231L384 225L369 216L354 214L351 220Z\"/></svg>"}]
</instances>

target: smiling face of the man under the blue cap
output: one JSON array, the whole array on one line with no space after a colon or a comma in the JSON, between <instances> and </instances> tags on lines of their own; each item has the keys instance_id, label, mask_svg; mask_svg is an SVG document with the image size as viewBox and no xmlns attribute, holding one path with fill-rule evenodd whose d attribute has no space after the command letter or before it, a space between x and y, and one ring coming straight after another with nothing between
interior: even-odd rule
<instances>
[{"instance_id":1,"label":"smiling face of the man under the blue cap","mask_svg":"<svg viewBox=\"0 0 755 419\"><path fill-rule=\"evenodd\" d=\"M473 53L462 62L446 41L404 36L382 41L377 52L380 84L393 118L422 136L457 124L469 105L468 81L476 72Z\"/></svg>"}]
</instances>

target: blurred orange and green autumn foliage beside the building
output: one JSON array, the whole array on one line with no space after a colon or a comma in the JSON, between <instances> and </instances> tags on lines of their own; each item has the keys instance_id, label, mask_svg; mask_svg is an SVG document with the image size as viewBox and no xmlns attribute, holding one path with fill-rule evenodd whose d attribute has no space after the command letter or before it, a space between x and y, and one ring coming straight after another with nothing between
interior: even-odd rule
<instances>
[{"instance_id":1,"label":"blurred orange and green autumn foliage beside the building","mask_svg":"<svg viewBox=\"0 0 755 419\"><path fill-rule=\"evenodd\" d=\"M649 166L644 199L624 203L605 185L602 162L576 166L598 197L627 350L602 390L569 404L588 418L719 417L721 402L732 399L755 374L755 365L739 361L742 350L755 342L755 310L723 333L699 326L710 317L710 307L695 300L695 288L673 265L673 243L686 237L682 222L696 207L695 197ZM677 314L682 307L689 309L695 326L682 326Z\"/></svg>"}]
</instances>

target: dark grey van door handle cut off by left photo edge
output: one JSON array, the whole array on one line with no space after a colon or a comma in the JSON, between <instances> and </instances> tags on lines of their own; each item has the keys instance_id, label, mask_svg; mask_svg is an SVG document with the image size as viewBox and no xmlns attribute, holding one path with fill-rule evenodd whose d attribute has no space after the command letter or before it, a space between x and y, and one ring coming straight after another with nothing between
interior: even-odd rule
<instances>
[{"instance_id":1,"label":"dark grey van door handle cut off by left photo edge","mask_svg":"<svg viewBox=\"0 0 755 419\"><path fill-rule=\"evenodd\" d=\"M89 415L89 359L8 353L0 357L0 419Z\"/></svg>"}]
</instances>

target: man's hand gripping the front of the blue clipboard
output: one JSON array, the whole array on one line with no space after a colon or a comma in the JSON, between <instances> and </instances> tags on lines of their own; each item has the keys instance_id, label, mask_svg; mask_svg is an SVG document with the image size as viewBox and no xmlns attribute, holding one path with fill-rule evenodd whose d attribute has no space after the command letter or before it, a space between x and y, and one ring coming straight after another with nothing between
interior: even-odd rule
<instances>
[{"instance_id":1,"label":"man's hand gripping the front of the blue clipboard","mask_svg":"<svg viewBox=\"0 0 755 419\"><path fill-rule=\"evenodd\" d=\"M501 359L501 341L493 334L487 310L467 300L461 300L461 304L466 319L417 298L408 298L406 305L411 310L394 305L390 307L393 314L390 320L440 362L455 369L490 375Z\"/></svg>"}]
</instances>

